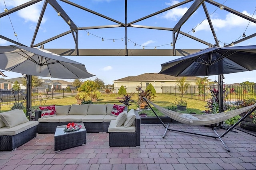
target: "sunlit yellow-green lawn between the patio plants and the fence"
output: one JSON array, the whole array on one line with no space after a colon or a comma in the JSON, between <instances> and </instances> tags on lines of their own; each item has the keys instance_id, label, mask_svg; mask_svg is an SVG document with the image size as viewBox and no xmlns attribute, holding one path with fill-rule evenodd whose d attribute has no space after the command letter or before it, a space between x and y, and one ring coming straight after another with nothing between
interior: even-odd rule
<instances>
[{"instance_id":1,"label":"sunlit yellow-green lawn between the patio plants and the fence","mask_svg":"<svg viewBox=\"0 0 256 170\"><path fill-rule=\"evenodd\" d=\"M132 99L134 101L137 101L137 94L134 94ZM120 104L118 100L121 99L122 96L114 95L114 94L104 94L102 95L97 102L94 102L94 104ZM172 96L168 94L156 94L156 97L152 100L155 104L168 108L171 106L176 106L174 101L176 100L177 96ZM177 97L178 100L180 97ZM90 100L90 98L88 98ZM188 106L186 111L182 111L183 113L197 113L202 114L201 112L205 110L206 102L202 102L199 100L194 99L186 99L188 102ZM38 107L42 106L44 102L32 102L32 106ZM77 104L77 101L75 97L68 97L68 98L59 98L59 99L49 99L46 101L45 106L49 106L55 104L56 106L61 105L71 105L71 104ZM12 105L2 105L1 106L1 112L9 111ZM128 109L137 109L136 102L132 103L132 106L129 106ZM153 109L156 111L158 116L164 116L162 113L160 113L157 109L153 107ZM148 116L155 116L154 113L151 110L143 111L144 113L147 113Z\"/></svg>"}]
</instances>

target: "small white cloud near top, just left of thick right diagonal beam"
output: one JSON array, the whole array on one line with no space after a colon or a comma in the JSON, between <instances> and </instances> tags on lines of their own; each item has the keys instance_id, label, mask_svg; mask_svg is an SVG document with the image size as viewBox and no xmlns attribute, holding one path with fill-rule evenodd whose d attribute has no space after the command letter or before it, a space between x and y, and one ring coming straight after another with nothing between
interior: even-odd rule
<instances>
[{"instance_id":1,"label":"small white cloud near top, just left of thick right diagonal beam","mask_svg":"<svg viewBox=\"0 0 256 170\"><path fill-rule=\"evenodd\" d=\"M179 1L171 1L171 3L166 3L166 5L168 6L172 6L175 4L178 4ZM176 7L174 9L168 10L167 12L164 12L163 15L160 15L159 18L165 18L167 20L173 20L173 21L177 21L178 18L181 18L186 12L187 12L188 8L184 7Z\"/></svg>"}]
</instances>

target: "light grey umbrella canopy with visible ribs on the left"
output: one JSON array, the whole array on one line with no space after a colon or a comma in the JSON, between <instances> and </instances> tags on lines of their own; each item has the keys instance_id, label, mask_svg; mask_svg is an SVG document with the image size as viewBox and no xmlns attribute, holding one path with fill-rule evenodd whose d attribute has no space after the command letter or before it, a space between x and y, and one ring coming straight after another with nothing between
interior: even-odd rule
<instances>
[{"instance_id":1,"label":"light grey umbrella canopy with visible ribs on the left","mask_svg":"<svg viewBox=\"0 0 256 170\"><path fill-rule=\"evenodd\" d=\"M89 78L85 65L39 48L0 46L0 69L54 78Z\"/></svg>"}]
</instances>

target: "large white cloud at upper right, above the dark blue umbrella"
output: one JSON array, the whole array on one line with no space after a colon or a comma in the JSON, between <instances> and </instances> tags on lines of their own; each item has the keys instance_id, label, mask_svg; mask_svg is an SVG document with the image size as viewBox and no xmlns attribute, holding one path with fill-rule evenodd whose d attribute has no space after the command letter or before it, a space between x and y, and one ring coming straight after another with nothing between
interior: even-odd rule
<instances>
[{"instance_id":1,"label":"large white cloud at upper right, above the dark blue umbrella","mask_svg":"<svg viewBox=\"0 0 256 170\"><path fill-rule=\"evenodd\" d=\"M252 16L251 14L249 14L246 11L243 11L242 13L247 15L247 16ZM254 16L253 18L256 18L256 16ZM245 20L244 18L236 16L232 13L228 13L226 15L225 19L212 18L211 17L211 21L212 21L212 24L214 25L215 30L222 29L222 28L231 29L231 28L234 28L234 27L245 27L245 25L248 25L248 23L249 23L248 20ZM250 27L256 27L256 24L251 22L249 24L249 26ZM210 26L209 26L207 20L204 20L200 25L198 25L196 27L196 31L200 31L200 30L210 31Z\"/></svg>"}]
</instances>

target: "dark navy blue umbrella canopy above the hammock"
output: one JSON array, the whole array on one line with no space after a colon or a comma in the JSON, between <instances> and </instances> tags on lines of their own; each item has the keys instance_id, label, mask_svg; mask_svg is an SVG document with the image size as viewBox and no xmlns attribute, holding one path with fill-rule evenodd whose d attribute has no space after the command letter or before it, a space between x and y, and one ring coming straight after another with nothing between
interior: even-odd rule
<instances>
[{"instance_id":1,"label":"dark navy blue umbrella canopy above the hammock","mask_svg":"<svg viewBox=\"0 0 256 170\"><path fill-rule=\"evenodd\" d=\"M211 76L256 70L256 45L212 47L161 64L161 74Z\"/></svg>"}]
</instances>

